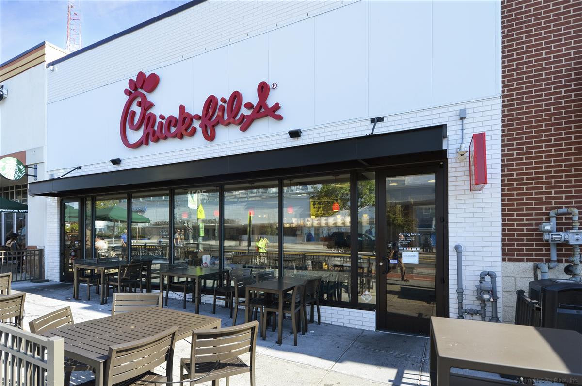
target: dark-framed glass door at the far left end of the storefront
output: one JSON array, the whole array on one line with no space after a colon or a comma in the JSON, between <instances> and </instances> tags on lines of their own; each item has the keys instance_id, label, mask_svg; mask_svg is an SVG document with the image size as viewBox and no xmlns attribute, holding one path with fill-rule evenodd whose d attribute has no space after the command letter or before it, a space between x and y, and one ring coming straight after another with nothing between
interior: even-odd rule
<instances>
[{"instance_id":1,"label":"dark-framed glass door at the far left end of the storefront","mask_svg":"<svg viewBox=\"0 0 582 386\"><path fill-rule=\"evenodd\" d=\"M81 258L79 199L64 199L61 207L61 281L73 281L73 260Z\"/></svg>"}]
</instances>

